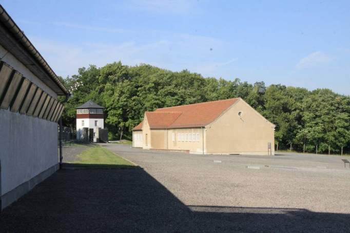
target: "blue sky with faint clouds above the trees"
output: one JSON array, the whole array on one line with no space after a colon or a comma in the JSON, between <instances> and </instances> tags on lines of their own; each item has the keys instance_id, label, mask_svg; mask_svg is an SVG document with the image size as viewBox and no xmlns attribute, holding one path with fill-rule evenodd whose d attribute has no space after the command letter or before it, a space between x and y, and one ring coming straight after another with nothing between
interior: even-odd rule
<instances>
[{"instance_id":1,"label":"blue sky with faint clouds above the trees","mask_svg":"<svg viewBox=\"0 0 350 233\"><path fill-rule=\"evenodd\" d=\"M63 77L121 60L350 95L349 1L0 3Z\"/></svg>"}]
</instances>

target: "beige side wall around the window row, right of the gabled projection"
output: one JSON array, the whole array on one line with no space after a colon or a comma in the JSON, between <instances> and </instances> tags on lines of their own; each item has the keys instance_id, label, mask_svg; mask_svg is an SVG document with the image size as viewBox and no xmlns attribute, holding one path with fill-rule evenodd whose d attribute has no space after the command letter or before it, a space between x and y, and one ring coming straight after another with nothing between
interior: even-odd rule
<instances>
[{"instance_id":1,"label":"beige side wall around the window row, right of the gabled projection","mask_svg":"<svg viewBox=\"0 0 350 233\"><path fill-rule=\"evenodd\" d=\"M203 131L201 128L193 129L169 129L168 134L168 149L169 150L189 150L190 153L202 154L203 146L205 153L205 143L203 144ZM199 133L198 141L179 141L179 133ZM174 140L172 140L172 134L174 134ZM205 138L205 131L204 131Z\"/></svg>"}]
</instances>

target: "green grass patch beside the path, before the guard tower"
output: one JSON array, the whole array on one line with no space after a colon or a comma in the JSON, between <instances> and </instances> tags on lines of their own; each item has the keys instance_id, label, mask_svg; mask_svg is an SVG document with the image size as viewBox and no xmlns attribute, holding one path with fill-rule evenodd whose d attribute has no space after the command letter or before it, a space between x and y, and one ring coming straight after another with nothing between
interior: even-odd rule
<instances>
[{"instance_id":1,"label":"green grass patch beside the path, before the guard tower","mask_svg":"<svg viewBox=\"0 0 350 233\"><path fill-rule=\"evenodd\" d=\"M110 168L135 168L134 164L114 154L103 147L92 147L77 155L78 161L70 163L68 167L110 167Z\"/></svg>"}]
</instances>

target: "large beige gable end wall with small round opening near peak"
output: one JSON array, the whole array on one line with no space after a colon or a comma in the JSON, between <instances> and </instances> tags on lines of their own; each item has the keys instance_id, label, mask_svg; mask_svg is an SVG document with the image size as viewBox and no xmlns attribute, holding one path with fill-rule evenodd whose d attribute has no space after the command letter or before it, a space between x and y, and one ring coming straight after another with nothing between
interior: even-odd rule
<instances>
[{"instance_id":1,"label":"large beige gable end wall with small round opening near peak","mask_svg":"<svg viewBox=\"0 0 350 233\"><path fill-rule=\"evenodd\" d=\"M274 133L274 125L240 99L206 126L207 153L267 155L270 142L274 155Z\"/></svg>"}]
</instances>

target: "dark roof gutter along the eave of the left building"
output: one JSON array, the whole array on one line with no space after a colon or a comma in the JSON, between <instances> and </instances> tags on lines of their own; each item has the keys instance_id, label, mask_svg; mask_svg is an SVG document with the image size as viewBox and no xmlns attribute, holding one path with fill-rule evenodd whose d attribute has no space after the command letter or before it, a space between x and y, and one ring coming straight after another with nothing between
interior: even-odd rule
<instances>
[{"instance_id":1,"label":"dark roof gutter along the eave of the left building","mask_svg":"<svg viewBox=\"0 0 350 233\"><path fill-rule=\"evenodd\" d=\"M66 95L69 95L66 87L63 85L51 67L47 64L45 59L41 56L40 52L36 50L36 48L29 41L23 31L11 19L10 15L6 12L2 5L0 5L0 22L2 22L9 30L9 32L13 35L13 37L16 38L18 42L24 46L26 51L34 58L34 60L41 65L41 68L46 71L47 75L57 84L57 86L59 86Z\"/></svg>"}]
</instances>

